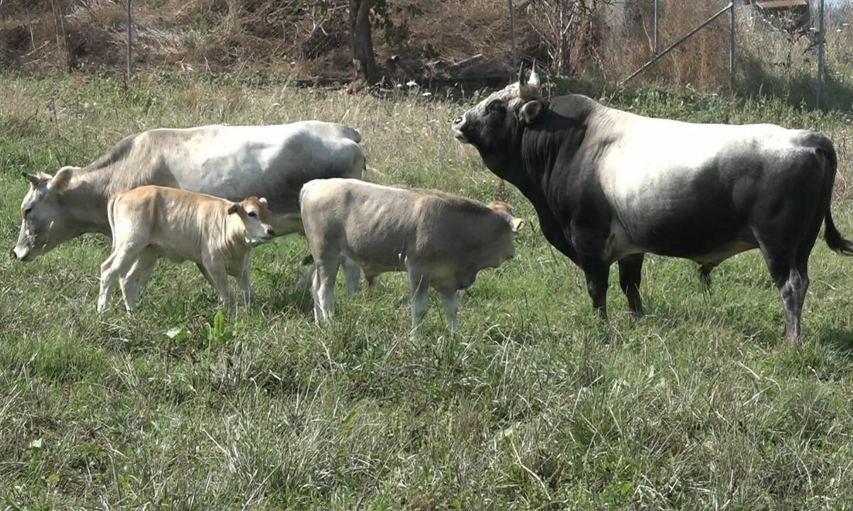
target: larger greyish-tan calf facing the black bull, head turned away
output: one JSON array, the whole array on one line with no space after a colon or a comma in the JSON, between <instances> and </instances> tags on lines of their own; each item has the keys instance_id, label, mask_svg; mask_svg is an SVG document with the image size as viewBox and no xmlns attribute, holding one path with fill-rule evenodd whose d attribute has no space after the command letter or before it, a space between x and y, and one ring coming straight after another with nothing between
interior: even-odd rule
<instances>
[{"instance_id":1,"label":"larger greyish-tan calf facing the black bull, head turned away","mask_svg":"<svg viewBox=\"0 0 853 511\"><path fill-rule=\"evenodd\" d=\"M448 328L456 331L456 292L480 270L513 257L525 221L508 204L486 206L432 190L382 187L355 179L305 183L299 195L305 236L316 262L313 279L317 323L334 314L334 280L341 255L347 289L360 277L409 273L412 334L427 312L427 292L438 291ZM355 261L354 263L352 261Z\"/></svg>"}]
</instances>

